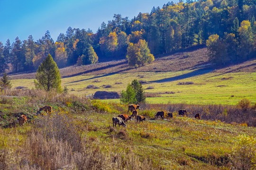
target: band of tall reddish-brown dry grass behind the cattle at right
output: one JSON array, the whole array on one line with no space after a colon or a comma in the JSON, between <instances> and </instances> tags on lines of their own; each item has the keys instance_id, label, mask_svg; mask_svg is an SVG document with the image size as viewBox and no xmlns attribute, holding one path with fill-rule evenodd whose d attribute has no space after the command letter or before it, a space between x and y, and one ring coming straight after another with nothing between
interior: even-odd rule
<instances>
[{"instance_id":1,"label":"band of tall reddish-brown dry grass behind the cattle at right","mask_svg":"<svg viewBox=\"0 0 256 170\"><path fill-rule=\"evenodd\" d=\"M164 110L177 116L178 110L188 110L188 117L193 118L195 114L200 113L201 119L220 120L230 124L242 124L256 127L256 110L248 108L244 110L238 106L230 105L199 105L199 104L141 104L142 114L153 118L158 110ZM153 112L152 112L153 111ZM155 112L154 112L155 111Z\"/></svg>"}]
</instances>

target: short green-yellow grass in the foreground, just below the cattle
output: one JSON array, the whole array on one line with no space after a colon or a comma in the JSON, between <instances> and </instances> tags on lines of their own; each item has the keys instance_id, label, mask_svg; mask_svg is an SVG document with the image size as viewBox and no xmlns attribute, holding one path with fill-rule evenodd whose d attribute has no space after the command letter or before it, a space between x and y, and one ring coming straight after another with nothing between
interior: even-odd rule
<instances>
[{"instance_id":1,"label":"short green-yellow grass in the foreground, just below the cattle","mask_svg":"<svg viewBox=\"0 0 256 170\"><path fill-rule=\"evenodd\" d=\"M128 121L127 128L112 126L115 113L95 113L86 116L92 129L86 135L102 142L118 144L164 169L217 170L218 161L228 161L228 155L239 135L254 136L253 127L232 126L218 121L204 121L174 116L173 119ZM122 133L120 133L122 131ZM115 138L118 136L119 138ZM210 160L212 162L210 162ZM225 163L223 163L225 164Z\"/></svg>"}]
</instances>

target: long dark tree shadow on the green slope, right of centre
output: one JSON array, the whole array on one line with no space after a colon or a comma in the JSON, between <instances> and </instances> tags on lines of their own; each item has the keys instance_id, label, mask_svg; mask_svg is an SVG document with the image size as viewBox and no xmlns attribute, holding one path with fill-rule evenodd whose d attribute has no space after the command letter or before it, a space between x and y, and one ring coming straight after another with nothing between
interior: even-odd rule
<instances>
[{"instance_id":1,"label":"long dark tree shadow on the green slope, right of centre","mask_svg":"<svg viewBox=\"0 0 256 170\"><path fill-rule=\"evenodd\" d=\"M201 69L197 69L194 70L192 72L183 74L183 75L179 75L179 76L174 76L174 77L168 77L168 78L164 78L164 79L160 79L160 80L154 80L154 81L148 81L149 83L165 83L165 82L171 82L171 81L176 81L176 80L182 80L184 78L189 78L192 76L200 76L203 74L207 74L210 73L213 69L211 68L201 68Z\"/></svg>"}]
</instances>

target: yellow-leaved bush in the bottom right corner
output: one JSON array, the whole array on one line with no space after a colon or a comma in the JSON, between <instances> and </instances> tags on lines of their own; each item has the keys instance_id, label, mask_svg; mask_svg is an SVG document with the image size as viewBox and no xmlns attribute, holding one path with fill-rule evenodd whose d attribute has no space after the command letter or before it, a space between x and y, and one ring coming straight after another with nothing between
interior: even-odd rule
<instances>
[{"instance_id":1,"label":"yellow-leaved bush in the bottom right corner","mask_svg":"<svg viewBox=\"0 0 256 170\"><path fill-rule=\"evenodd\" d=\"M239 135L229 155L236 170L256 169L256 138Z\"/></svg>"}]
</instances>

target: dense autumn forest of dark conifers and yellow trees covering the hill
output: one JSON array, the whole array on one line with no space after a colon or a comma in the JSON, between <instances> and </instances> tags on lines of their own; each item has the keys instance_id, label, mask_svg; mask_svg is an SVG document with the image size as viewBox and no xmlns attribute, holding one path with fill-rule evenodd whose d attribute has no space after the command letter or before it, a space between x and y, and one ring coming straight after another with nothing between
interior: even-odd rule
<instances>
[{"instance_id":1,"label":"dense autumn forest of dark conifers and yellow trees covering the hill","mask_svg":"<svg viewBox=\"0 0 256 170\"><path fill-rule=\"evenodd\" d=\"M206 44L210 61L237 63L256 56L256 0L173 1L128 20L114 14L97 33L68 27L56 42L50 32L11 44L0 42L0 72L32 71L51 54L59 68L113 59L139 67L154 55Z\"/></svg>"}]
</instances>

